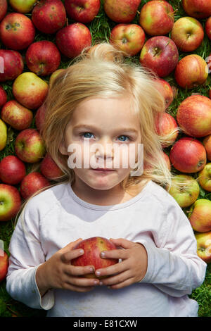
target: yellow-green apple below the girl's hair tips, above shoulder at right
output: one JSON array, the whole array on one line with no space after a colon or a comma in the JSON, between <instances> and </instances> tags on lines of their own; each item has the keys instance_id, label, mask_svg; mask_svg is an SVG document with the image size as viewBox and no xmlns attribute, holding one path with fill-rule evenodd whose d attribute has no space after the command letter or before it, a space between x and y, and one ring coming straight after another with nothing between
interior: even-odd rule
<instances>
[{"instance_id":1,"label":"yellow-green apple below the girl's hair tips, above shoulder at right","mask_svg":"<svg viewBox=\"0 0 211 331\"><path fill-rule=\"evenodd\" d=\"M179 183L181 185L178 185ZM191 206L198 198L199 192L198 182L190 175L179 174L172 178L169 193L181 208Z\"/></svg>"}]
</instances>

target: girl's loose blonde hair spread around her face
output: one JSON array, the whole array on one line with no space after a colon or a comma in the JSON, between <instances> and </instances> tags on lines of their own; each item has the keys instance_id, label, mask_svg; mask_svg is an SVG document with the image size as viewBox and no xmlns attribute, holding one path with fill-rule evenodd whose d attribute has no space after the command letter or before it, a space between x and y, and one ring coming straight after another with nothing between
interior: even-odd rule
<instances>
[{"instance_id":1,"label":"girl's loose blonde hair spread around her face","mask_svg":"<svg viewBox=\"0 0 211 331\"><path fill-rule=\"evenodd\" d=\"M68 168L68 156L59 151L65 127L75 108L90 97L108 99L129 96L134 112L139 115L144 168L141 176L128 175L121 185L127 190L132 185L153 180L170 189L172 174L162 151L162 142L169 137L160 137L155 132L155 115L165 111L165 99L157 87L158 76L139 64L127 63L126 56L112 44L101 42L85 48L51 82L44 101L45 120L40 133L46 151L63 171L63 176L50 187L75 181L74 170Z\"/></svg>"}]
</instances>

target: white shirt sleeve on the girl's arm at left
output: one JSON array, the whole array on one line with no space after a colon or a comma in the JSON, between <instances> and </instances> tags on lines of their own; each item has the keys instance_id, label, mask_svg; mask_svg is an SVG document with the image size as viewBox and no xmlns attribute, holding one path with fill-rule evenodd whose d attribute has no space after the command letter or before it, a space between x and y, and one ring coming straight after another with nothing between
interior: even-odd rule
<instances>
[{"instance_id":1,"label":"white shirt sleeve on the girl's arm at left","mask_svg":"<svg viewBox=\"0 0 211 331\"><path fill-rule=\"evenodd\" d=\"M39 241L39 211L32 200L20 214L11 237L6 290L13 299L31 308L48 310L54 304L53 289L41 297L35 280L45 255Z\"/></svg>"}]
</instances>

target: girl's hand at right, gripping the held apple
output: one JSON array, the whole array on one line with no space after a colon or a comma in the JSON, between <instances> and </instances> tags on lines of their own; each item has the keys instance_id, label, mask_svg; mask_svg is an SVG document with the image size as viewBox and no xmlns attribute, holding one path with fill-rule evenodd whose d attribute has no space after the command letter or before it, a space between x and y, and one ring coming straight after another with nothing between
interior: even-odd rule
<instances>
[{"instance_id":1,"label":"girl's hand at right, gripping the held apple","mask_svg":"<svg viewBox=\"0 0 211 331\"><path fill-rule=\"evenodd\" d=\"M107 285L111 289L120 289L134 282L140 282L147 270L147 253L144 246L122 238L110 239L110 241L123 249L104 251L104 255L101 257L121 258L122 262L95 271L97 276L110 276L101 279L103 285Z\"/></svg>"}]
</instances>

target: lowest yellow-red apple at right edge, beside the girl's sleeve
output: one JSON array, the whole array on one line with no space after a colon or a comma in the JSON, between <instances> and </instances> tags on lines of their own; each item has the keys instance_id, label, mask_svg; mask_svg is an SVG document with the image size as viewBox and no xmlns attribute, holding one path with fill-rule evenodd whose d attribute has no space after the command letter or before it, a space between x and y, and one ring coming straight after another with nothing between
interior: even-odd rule
<instances>
[{"instance_id":1,"label":"lowest yellow-red apple at right edge, beside the girl's sleeve","mask_svg":"<svg viewBox=\"0 0 211 331\"><path fill-rule=\"evenodd\" d=\"M205 263L211 262L211 231L203 233L195 233L197 242L197 254L205 261Z\"/></svg>"}]
</instances>

